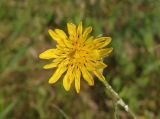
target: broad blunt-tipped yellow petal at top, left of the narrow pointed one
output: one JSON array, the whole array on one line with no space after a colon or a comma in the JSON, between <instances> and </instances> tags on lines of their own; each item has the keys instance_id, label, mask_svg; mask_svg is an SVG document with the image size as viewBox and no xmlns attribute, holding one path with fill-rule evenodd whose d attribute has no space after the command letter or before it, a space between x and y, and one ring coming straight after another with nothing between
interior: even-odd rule
<instances>
[{"instance_id":1,"label":"broad blunt-tipped yellow petal at top, left of the narrow pointed one","mask_svg":"<svg viewBox=\"0 0 160 119\"><path fill-rule=\"evenodd\" d=\"M73 23L67 23L67 28L68 28L68 34L70 36L75 36L76 35L76 25Z\"/></svg>"}]
</instances>

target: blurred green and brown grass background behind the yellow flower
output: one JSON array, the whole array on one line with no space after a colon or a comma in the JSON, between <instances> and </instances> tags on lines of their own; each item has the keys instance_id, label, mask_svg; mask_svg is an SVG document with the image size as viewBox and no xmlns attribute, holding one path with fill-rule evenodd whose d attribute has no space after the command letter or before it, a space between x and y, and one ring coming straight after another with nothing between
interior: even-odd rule
<instances>
[{"instance_id":1,"label":"blurred green and brown grass background behind the yellow flower","mask_svg":"<svg viewBox=\"0 0 160 119\"><path fill-rule=\"evenodd\" d=\"M160 119L159 0L0 0L0 119L114 119L114 104L97 80L65 92L38 54L53 48L49 28L68 21L111 36L106 80L139 119ZM131 119L123 109L120 119Z\"/></svg>"}]
</instances>

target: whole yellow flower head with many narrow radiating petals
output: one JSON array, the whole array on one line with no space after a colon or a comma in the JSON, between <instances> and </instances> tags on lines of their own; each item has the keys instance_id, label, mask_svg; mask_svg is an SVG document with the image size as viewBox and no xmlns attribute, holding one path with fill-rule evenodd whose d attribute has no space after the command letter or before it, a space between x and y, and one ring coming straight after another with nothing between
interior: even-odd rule
<instances>
[{"instance_id":1,"label":"whole yellow flower head with many narrow radiating petals","mask_svg":"<svg viewBox=\"0 0 160 119\"><path fill-rule=\"evenodd\" d=\"M100 80L105 80L100 69L107 66L102 62L102 58L112 51L112 48L104 48L111 42L111 38L88 37L92 27L83 30L82 22L78 26L67 23L67 28L68 35L60 29L48 30L57 45L56 48L41 53L39 57L41 59L53 59L52 63L43 67L44 69L57 68L49 79L50 84L57 82L64 74L63 86L65 90L70 90L74 81L76 91L79 93L82 76L90 86L94 85L91 74L94 74Z\"/></svg>"}]
</instances>

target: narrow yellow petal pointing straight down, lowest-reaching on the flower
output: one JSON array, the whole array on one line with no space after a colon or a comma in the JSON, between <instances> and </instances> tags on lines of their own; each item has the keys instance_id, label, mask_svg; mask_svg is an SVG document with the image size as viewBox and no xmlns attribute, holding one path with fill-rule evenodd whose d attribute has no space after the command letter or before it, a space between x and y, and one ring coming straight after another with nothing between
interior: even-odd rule
<instances>
[{"instance_id":1,"label":"narrow yellow petal pointing straight down, lowest-reaching on the flower","mask_svg":"<svg viewBox=\"0 0 160 119\"><path fill-rule=\"evenodd\" d=\"M81 72L80 72L79 68L74 71L74 75L75 75L75 88L76 88L77 93L79 93L80 79L81 79Z\"/></svg>"}]
</instances>

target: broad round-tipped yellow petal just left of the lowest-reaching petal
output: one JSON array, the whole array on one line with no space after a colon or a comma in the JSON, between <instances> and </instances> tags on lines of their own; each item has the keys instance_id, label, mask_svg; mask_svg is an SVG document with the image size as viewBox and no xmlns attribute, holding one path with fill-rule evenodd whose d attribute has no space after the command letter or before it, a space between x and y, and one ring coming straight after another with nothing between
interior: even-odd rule
<instances>
[{"instance_id":1,"label":"broad round-tipped yellow petal just left of the lowest-reaching petal","mask_svg":"<svg viewBox=\"0 0 160 119\"><path fill-rule=\"evenodd\" d=\"M72 71L73 71L72 67L68 68L68 71L67 71L67 73L66 73L66 75L64 76L64 79L63 79L63 87L66 91L70 90L71 84L74 80Z\"/></svg>"}]
</instances>

